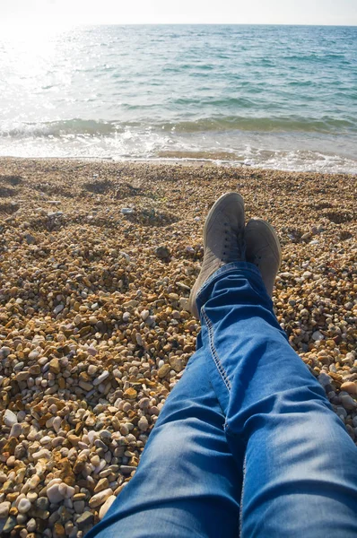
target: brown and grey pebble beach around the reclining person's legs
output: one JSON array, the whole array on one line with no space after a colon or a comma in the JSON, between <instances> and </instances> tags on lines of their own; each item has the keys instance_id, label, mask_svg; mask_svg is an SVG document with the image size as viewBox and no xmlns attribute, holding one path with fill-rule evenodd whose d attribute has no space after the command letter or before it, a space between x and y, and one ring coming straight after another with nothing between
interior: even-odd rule
<instances>
[{"instance_id":1,"label":"brown and grey pebble beach around the reclining person's legs","mask_svg":"<svg viewBox=\"0 0 357 538\"><path fill-rule=\"evenodd\" d=\"M276 316L357 442L356 176L1 158L1 535L83 538L134 475L228 191L277 231Z\"/></svg>"}]
</instances>

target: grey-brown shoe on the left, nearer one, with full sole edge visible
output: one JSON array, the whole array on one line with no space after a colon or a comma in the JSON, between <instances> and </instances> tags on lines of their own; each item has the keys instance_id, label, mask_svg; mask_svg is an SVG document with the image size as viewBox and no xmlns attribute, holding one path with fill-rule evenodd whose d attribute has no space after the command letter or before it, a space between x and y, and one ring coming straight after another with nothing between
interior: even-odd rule
<instances>
[{"instance_id":1,"label":"grey-brown shoe on the left, nearer one, with full sole edge visible","mask_svg":"<svg viewBox=\"0 0 357 538\"><path fill-rule=\"evenodd\" d=\"M189 309L197 318L196 296L222 265L245 260L244 201L238 193L226 193L213 204L205 220L204 261L189 296Z\"/></svg>"}]
</instances>

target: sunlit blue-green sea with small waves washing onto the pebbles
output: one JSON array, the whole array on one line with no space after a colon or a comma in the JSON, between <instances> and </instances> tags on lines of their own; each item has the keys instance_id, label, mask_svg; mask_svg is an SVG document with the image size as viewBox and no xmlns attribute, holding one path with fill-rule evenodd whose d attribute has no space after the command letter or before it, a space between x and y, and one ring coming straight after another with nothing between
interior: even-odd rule
<instances>
[{"instance_id":1,"label":"sunlit blue-green sea with small waves washing onto the pebbles","mask_svg":"<svg viewBox=\"0 0 357 538\"><path fill-rule=\"evenodd\" d=\"M0 35L0 155L357 173L357 27Z\"/></svg>"}]
</instances>

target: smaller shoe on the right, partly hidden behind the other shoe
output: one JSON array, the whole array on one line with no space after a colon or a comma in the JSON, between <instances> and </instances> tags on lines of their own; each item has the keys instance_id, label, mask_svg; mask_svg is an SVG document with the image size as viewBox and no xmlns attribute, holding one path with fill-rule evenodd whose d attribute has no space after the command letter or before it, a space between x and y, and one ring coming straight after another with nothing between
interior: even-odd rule
<instances>
[{"instance_id":1,"label":"smaller shoe on the right, partly hidden behind the other shoe","mask_svg":"<svg viewBox=\"0 0 357 538\"><path fill-rule=\"evenodd\" d=\"M257 265L272 297L276 273L282 263L282 250L273 226L263 219L251 219L246 226L246 244L246 259Z\"/></svg>"}]
</instances>

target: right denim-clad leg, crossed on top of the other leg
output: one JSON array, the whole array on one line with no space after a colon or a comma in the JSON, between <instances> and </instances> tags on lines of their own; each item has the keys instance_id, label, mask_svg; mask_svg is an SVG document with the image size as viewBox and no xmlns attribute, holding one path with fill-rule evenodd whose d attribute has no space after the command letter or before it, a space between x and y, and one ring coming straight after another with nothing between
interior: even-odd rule
<instances>
[{"instance_id":1,"label":"right denim-clad leg, crossed on top of the other leg","mask_svg":"<svg viewBox=\"0 0 357 538\"><path fill-rule=\"evenodd\" d=\"M257 267L224 265L197 306L226 435L245 460L241 535L357 536L357 448L289 345Z\"/></svg>"}]
</instances>

